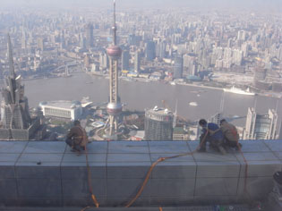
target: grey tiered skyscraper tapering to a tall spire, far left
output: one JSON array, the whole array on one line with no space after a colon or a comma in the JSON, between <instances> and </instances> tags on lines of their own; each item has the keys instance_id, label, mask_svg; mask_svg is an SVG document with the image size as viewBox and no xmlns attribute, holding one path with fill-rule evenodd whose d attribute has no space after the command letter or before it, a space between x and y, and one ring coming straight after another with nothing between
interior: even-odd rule
<instances>
[{"instance_id":1,"label":"grey tiered skyscraper tapering to a tall spire, far left","mask_svg":"<svg viewBox=\"0 0 282 211\"><path fill-rule=\"evenodd\" d=\"M10 76L6 78L6 88L2 89L0 139L29 140L42 131L40 119L31 119L28 98L24 97L21 75L17 76L13 67L13 50L8 35L8 55ZM40 133L43 134L43 133ZM37 137L38 138L38 137ZM38 139L40 139L39 137Z\"/></svg>"}]
</instances>

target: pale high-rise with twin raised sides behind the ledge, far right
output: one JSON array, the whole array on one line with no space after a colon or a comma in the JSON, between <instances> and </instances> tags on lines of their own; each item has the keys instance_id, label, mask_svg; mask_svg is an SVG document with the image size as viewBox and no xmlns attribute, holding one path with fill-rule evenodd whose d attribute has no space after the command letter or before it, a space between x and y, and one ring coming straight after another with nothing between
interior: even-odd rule
<instances>
[{"instance_id":1,"label":"pale high-rise with twin raised sides behind the ledge, far right","mask_svg":"<svg viewBox=\"0 0 282 211\"><path fill-rule=\"evenodd\" d=\"M249 107L244 139L276 139L278 114L269 109L268 114L257 114L255 109Z\"/></svg>"}]
</instances>

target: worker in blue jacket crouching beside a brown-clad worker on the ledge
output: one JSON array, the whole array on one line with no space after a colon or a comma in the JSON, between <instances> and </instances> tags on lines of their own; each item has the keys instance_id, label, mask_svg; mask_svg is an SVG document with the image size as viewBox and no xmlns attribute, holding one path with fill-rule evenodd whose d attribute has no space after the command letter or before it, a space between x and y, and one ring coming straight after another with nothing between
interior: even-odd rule
<instances>
[{"instance_id":1,"label":"worker in blue jacket crouching beside a brown-clad worker on the ledge","mask_svg":"<svg viewBox=\"0 0 282 211\"><path fill-rule=\"evenodd\" d=\"M219 129L218 124L208 123L204 119L201 119L199 124L202 128L201 130L202 133L200 137L200 148L198 148L198 151L205 152L207 142L209 142L209 146L211 148L215 148L222 155L225 155L226 150L223 148L224 137L222 131L218 130ZM216 132L212 133L212 131L216 131Z\"/></svg>"}]
</instances>

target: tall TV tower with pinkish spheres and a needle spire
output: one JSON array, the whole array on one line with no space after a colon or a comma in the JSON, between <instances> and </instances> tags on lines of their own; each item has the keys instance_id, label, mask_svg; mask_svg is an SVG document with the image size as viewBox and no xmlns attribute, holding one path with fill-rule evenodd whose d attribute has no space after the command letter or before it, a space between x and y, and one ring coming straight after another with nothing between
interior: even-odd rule
<instances>
[{"instance_id":1,"label":"tall TV tower with pinkish spheres and a needle spire","mask_svg":"<svg viewBox=\"0 0 282 211\"><path fill-rule=\"evenodd\" d=\"M114 24L113 44L107 48L109 56L109 103L107 104L108 119L105 125L105 139L116 139L118 130L118 118L123 111L123 105L118 96L118 59L122 55L122 49L116 44L116 24L115 24L115 0L114 0Z\"/></svg>"}]
</instances>

